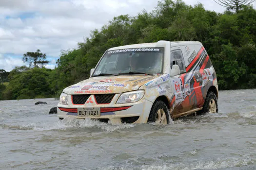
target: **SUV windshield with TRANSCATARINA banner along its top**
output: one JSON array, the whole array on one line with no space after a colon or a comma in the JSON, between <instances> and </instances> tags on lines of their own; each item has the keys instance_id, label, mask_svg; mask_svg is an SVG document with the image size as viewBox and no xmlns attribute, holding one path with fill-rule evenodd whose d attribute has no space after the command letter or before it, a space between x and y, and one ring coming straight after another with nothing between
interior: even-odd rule
<instances>
[{"instance_id":1,"label":"SUV windshield with TRANSCATARINA banner along its top","mask_svg":"<svg viewBox=\"0 0 256 170\"><path fill-rule=\"evenodd\" d=\"M164 48L138 48L107 51L93 76L118 74L160 74Z\"/></svg>"}]
</instances>

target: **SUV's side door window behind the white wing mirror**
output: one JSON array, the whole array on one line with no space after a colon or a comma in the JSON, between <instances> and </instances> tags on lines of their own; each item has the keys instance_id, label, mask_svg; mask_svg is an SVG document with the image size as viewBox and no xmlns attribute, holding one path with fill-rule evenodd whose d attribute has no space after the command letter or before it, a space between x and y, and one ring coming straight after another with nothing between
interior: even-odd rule
<instances>
[{"instance_id":1,"label":"SUV's side door window behind the white wing mirror","mask_svg":"<svg viewBox=\"0 0 256 170\"><path fill-rule=\"evenodd\" d=\"M180 69L180 73L186 72L184 58L183 58L181 50L171 51L171 68L175 64L178 65L178 67Z\"/></svg>"}]
</instances>

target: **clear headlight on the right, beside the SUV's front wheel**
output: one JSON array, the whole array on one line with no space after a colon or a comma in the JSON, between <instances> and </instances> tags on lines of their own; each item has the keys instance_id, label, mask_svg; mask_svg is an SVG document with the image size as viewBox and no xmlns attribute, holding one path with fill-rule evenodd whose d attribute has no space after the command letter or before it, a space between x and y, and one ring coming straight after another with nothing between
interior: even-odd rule
<instances>
[{"instance_id":1,"label":"clear headlight on the right, beside the SUV's front wheel","mask_svg":"<svg viewBox=\"0 0 256 170\"><path fill-rule=\"evenodd\" d=\"M144 90L137 90L137 91L123 93L119 97L117 104L138 102L144 96L144 93L145 93Z\"/></svg>"}]
</instances>

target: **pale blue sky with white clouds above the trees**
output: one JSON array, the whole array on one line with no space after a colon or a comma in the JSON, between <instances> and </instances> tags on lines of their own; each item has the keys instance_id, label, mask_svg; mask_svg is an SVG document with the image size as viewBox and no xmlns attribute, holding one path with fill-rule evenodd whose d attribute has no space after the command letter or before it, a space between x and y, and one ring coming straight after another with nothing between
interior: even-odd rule
<instances>
[{"instance_id":1,"label":"pale blue sky with white clouds above the trees","mask_svg":"<svg viewBox=\"0 0 256 170\"><path fill-rule=\"evenodd\" d=\"M223 12L213 0L183 0L203 3L207 10ZM100 29L113 17L151 12L158 0L0 0L0 69L11 71L25 65L27 51L46 53L54 68L61 50L77 48L78 42ZM256 2L254 2L254 7Z\"/></svg>"}]
</instances>

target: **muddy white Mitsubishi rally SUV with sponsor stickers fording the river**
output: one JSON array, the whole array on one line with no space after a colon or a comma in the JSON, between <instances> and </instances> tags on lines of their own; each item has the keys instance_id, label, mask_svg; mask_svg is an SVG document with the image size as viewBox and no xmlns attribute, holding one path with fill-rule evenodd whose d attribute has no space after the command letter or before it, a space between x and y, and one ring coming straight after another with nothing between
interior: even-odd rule
<instances>
[{"instance_id":1,"label":"muddy white Mitsubishi rally SUV with sponsor stickers fording the river","mask_svg":"<svg viewBox=\"0 0 256 170\"><path fill-rule=\"evenodd\" d=\"M200 42L158 41L105 51L89 79L63 90L58 117L168 124L218 111L215 69Z\"/></svg>"}]
</instances>

